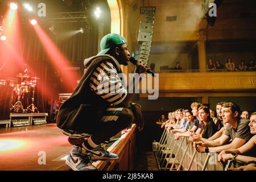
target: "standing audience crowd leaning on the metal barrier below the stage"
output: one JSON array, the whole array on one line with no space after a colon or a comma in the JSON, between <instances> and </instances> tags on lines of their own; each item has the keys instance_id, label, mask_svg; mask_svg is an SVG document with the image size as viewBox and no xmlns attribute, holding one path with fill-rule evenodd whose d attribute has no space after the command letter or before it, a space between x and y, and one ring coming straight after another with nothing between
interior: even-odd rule
<instances>
[{"instance_id":1,"label":"standing audience crowd leaning on the metal barrier below the stage","mask_svg":"<svg viewBox=\"0 0 256 182\"><path fill-rule=\"evenodd\" d=\"M232 160L238 162L237 170L256 170L256 112L241 112L234 102L219 102L216 111L193 102L191 111L168 113L161 127L174 133L175 140L188 137L197 152L218 153L221 164Z\"/></svg>"}]
</instances>

